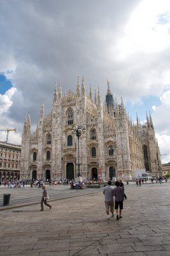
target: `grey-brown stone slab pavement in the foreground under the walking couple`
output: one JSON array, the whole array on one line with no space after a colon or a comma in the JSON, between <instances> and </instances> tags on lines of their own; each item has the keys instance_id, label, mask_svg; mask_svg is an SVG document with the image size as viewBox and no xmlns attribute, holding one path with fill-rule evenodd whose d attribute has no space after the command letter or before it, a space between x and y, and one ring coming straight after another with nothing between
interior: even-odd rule
<instances>
[{"instance_id":1,"label":"grey-brown stone slab pavement in the foreground under the walking couple","mask_svg":"<svg viewBox=\"0 0 170 256\"><path fill-rule=\"evenodd\" d=\"M169 183L125 186L122 219L106 220L102 190L1 211L0 255L169 256Z\"/></svg>"}]
</instances>

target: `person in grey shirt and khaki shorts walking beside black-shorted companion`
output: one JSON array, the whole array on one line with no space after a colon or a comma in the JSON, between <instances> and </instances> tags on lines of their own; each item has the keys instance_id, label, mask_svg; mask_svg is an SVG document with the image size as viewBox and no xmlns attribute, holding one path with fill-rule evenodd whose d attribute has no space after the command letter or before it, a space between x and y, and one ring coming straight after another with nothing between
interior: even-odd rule
<instances>
[{"instance_id":1,"label":"person in grey shirt and khaki shorts walking beside black-shorted companion","mask_svg":"<svg viewBox=\"0 0 170 256\"><path fill-rule=\"evenodd\" d=\"M103 189L104 194L104 204L106 208L107 220L110 220L111 217L115 215L114 212L114 202L113 202L113 188L111 187L111 180L108 181L108 185Z\"/></svg>"}]
</instances>

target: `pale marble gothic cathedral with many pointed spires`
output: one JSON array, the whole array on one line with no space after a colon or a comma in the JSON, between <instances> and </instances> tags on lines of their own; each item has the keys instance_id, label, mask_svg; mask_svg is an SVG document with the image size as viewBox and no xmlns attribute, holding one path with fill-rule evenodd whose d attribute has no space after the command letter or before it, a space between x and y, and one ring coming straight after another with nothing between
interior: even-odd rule
<instances>
[{"instance_id":1,"label":"pale marble gothic cathedral with many pointed spires","mask_svg":"<svg viewBox=\"0 0 170 256\"><path fill-rule=\"evenodd\" d=\"M69 90L64 97L55 84L52 110L45 116L41 104L36 131L31 132L31 116L25 117L20 179L75 180L79 171L83 179L131 180L132 170L158 175L159 166L152 117L146 114L141 124L137 116L132 123L109 82L104 104L99 89L94 99L91 88L87 96L84 79L76 93Z\"/></svg>"}]
</instances>

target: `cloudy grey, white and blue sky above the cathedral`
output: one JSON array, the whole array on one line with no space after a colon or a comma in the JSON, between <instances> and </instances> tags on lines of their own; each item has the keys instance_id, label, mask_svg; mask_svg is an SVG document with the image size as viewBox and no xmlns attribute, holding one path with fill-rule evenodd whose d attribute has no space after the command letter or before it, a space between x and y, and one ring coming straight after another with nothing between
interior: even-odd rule
<instances>
[{"instance_id":1,"label":"cloudy grey, white and blue sky above the cathedral","mask_svg":"<svg viewBox=\"0 0 170 256\"><path fill-rule=\"evenodd\" d=\"M170 161L169 0L0 0L0 129L21 143L25 114L36 127L55 81L76 92L123 97L136 121L151 113L162 163ZM0 132L0 141L6 132ZM164 156L164 154L167 154Z\"/></svg>"}]
</instances>

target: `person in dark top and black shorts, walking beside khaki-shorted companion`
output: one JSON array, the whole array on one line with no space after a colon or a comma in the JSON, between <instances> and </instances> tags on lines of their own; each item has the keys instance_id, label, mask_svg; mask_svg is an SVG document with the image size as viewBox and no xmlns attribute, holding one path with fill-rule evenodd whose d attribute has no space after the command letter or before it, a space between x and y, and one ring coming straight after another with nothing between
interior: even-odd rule
<instances>
[{"instance_id":1,"label":"person in dark top and black shorts, walking beside khaki-shorted companion","mask_svg":"<svg viewBox=\"0 0 170 256\"><path fill-rule=\"evenodd\" d=\"M124 201L124 190L120 187L120 182L117 180L115 182L116 188L113 189L113 196L115 197L115 210L117 212L117 220L122 218L122 209L123 209L123 201ZM119 214L118 214L119 208Z\"/></svg>"}]
</instances>

